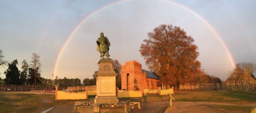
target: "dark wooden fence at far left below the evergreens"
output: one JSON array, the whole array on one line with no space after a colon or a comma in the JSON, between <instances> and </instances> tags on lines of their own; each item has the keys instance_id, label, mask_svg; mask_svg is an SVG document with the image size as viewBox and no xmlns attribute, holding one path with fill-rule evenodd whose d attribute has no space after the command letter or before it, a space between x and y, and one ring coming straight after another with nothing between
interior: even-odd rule
<instances>
[{"instance_id":1,"label":"dark wooden fence at far left below the evergreens","mask_svg":"<svg viewBox=\"0 0 256 113\"><path fill-rule=\"evenodd\" d=\"M16 85L2 85L0 86L0 91L37 91L37 90L52 90L52 87L37 87L37 86L16 86Z\"/></svg>"}]
</instances>

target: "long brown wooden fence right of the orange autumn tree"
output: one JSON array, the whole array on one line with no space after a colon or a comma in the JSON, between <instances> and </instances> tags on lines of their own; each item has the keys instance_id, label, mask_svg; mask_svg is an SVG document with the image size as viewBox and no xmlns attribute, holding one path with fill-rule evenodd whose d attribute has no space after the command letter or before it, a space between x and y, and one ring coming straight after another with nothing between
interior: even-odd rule
<instances>
[{"instance_id":1,"label":"long brown wooden fence right of the orange autumn tree","mask_svg":"<svg viewBox=\"0 0 256 113\"><path fill-rule=\"evenodd\" d=\"M178 90L232 90L232 91L256 91L256 83L249 84L185 84L179 85Z\"/></svg>"}]
</instances>

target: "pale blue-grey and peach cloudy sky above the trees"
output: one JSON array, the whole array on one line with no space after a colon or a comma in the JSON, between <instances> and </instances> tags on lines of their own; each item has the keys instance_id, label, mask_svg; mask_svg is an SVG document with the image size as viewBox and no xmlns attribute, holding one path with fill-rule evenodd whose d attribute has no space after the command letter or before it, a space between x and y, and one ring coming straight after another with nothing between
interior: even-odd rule
<instances>
[{"instance_id":1,"label":"pale blue-grey and peach cloudy sky above the trees","mask_svg":"<svg viewBox=\"0 0 256 113\"><path fill-rule=\"evenodd\" d=\"M41 76L48 79L52 73L81 81L92 78L98 71L95 41L101 32L110 40L111 59L120 64L136 60L147 70L140 45L161 24L179 26L195 39L198 60L209 75L226 80L234 64L256 63L254 0L0 0L0 14L5 60L17 59L21 70L23 60L30 62L32 53L39 53ZM7 68L0 67L1 78Z\"/></svg>"}]
</instances>

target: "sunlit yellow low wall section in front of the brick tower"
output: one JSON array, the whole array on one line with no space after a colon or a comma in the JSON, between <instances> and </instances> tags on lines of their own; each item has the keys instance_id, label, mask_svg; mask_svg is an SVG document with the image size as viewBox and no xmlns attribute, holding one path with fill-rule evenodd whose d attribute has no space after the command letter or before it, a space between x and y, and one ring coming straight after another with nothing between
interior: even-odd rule
<instances>
[{"instance_id":1,"label":"sunlit yellow low wall section in front of the brick tower","mask_svg":"<svg viewBox=\"0 0 256 113\"><path fill-rule=\"evenodd\" d=\"M124 98L124 97L142 97L141 91L122 91L119 90L117 93L117 98Z\"/></svg>"}]
</instances>

